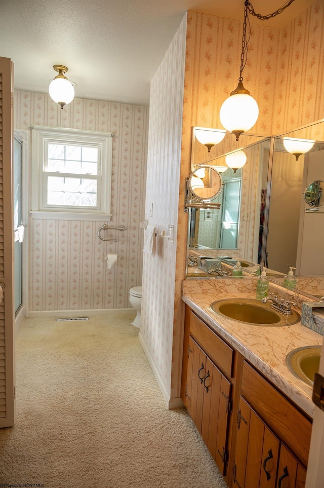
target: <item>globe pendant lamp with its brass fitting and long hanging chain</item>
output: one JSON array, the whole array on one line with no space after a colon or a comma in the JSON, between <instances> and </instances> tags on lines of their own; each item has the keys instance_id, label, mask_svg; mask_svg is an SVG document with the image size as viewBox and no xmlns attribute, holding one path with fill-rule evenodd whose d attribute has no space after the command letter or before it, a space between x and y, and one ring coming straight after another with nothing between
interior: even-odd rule
<instances>
[{"instance_id":1,"label":"globe pendant lamp with its brass fitting and long hanging chain","mask_svg":"<svg viewBox=\"0 0 324 488\"><path fill-rule=\"evenodd\" d=\"M233 132L238 141L239 136L251 129L258 120L259 107L256 100L251 96L249 90L246 90L243 86L242 73L248 60L248 44L250 41L251 27L249 14L254 15L260 20L268 20L276 15L280 14L295 0L290 0L280 9L276 10L269 15L256 14L253 5L249 0L245 0L244 3L244 22L243 22L243 36L242 36L242 52L241 52L241 64L239 68L238 85L230 93L230 96L226 98L220 109L220 121L230 132ZM248 27L248 36L247 36Z\"/></svg>"}]
</instances>

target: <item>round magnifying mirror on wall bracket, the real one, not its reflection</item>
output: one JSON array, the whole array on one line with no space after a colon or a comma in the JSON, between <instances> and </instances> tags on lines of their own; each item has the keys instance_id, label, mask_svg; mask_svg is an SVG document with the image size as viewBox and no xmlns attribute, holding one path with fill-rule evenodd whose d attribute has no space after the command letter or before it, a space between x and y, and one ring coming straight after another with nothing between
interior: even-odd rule
<instances>
[{"instance_id":1,"label":"round magnifying mirror on wall bracket, the real one, not its reflection","mask_svg":"<svg viewBox=\"0 0 324 488\"><path fill-rule=\"evenodd\" d=\"M191 173L188 186L192 195L200 200L210 201L221 193L222 177L215 168L199 166Z\"/></svg>"}]
</instances>

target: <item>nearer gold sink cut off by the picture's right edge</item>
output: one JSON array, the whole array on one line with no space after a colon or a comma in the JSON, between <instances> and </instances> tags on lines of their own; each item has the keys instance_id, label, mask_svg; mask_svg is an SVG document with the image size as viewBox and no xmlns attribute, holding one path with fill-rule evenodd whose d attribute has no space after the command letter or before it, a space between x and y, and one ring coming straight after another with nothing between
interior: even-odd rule
<instances>
[{"instance_id":1,"label":"nearer gold sink cut off by the picture's right edge","mask_svg":"<svg viewBox=\"0 0 324 488\"><path fill-rule=\"evenodd\" d=\"M286 364L299 380L313 386L314 374L318 372L320 346L305 346L294 349L286 356Z\"/></svg>"}]
</instances>

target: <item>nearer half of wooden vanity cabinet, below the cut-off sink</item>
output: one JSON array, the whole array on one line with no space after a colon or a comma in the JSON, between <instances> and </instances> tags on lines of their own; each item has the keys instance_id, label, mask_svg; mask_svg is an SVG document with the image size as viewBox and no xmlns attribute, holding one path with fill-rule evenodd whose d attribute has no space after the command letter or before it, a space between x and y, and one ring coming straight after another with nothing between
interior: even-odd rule
<instances>
[{"instance_id":1,"label":"nearer half of wooden vanity cabinet, below the cut-off sink","mask_svg":"<svg viewBox=\"0 0 324 488\"><path fill-rule=\"evenodd\" d=\"M248 362L242 370L232 486L302 488L310 419Z\"/></svg>"}]
</instances>

